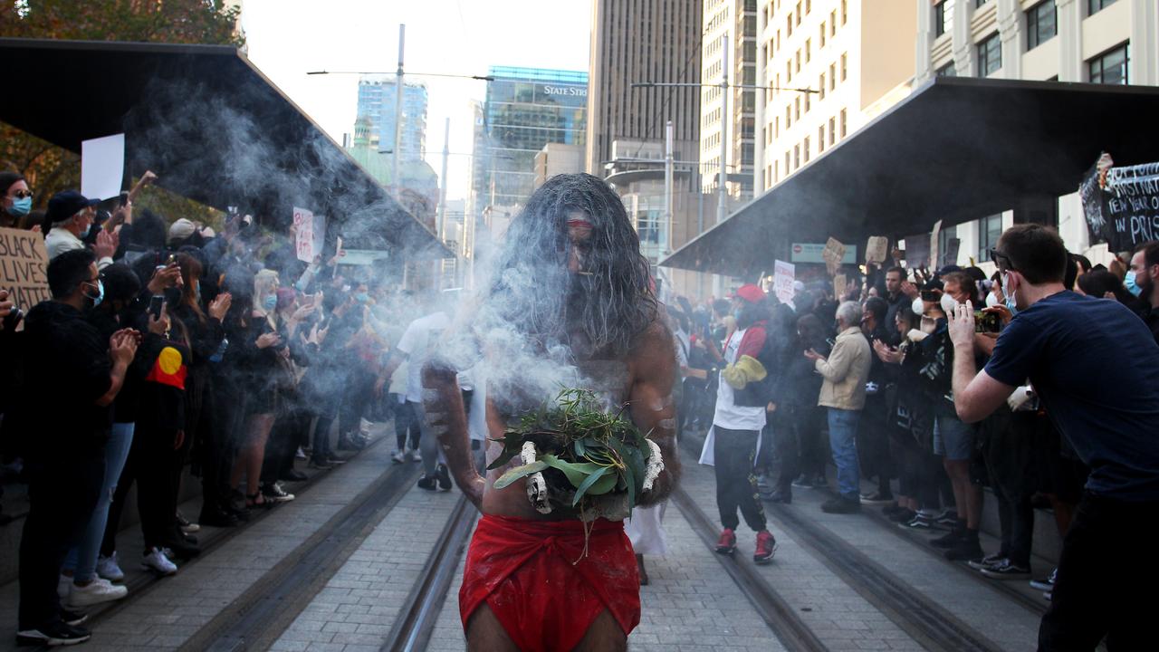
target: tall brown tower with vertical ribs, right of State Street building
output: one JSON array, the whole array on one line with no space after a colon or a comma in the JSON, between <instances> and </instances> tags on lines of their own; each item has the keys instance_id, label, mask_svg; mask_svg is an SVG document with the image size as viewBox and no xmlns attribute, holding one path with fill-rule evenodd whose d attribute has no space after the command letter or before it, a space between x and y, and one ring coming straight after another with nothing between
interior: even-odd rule
<instances>
[{"instance_id":1,"label":"tall brown tower with vertical ribs, right of State Street building","mask_svg":"<svg viewBox=\"0 0 1159 652\"><path fill-rule=\"evenodd\" d=\"M671 119L678 143L700 142L700 90L633 87L700 81L702 2L593 0L585 169L606 176L613 140L663 140Z\"/></svg>"}]
</instances>

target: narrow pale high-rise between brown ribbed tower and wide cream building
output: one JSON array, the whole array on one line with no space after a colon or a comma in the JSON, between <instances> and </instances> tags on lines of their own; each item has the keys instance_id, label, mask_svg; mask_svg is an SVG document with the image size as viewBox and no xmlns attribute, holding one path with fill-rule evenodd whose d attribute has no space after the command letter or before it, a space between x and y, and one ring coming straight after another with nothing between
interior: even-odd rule
<instances>
[{"instance_id":1,"label":"narrow pale high-rise between brown ribbed tower and wide cream building","mask_svg":"<svg viewBox=\"0 0 1159 652\"><path fill-rule=\"evenodd\" d=\"M705 39L700 55L701 84L757 84L757 0L706 0ZM724 70L723 49L728 52ZM700 187L705 193L717 191L721 165L721 138L727 136L724 168L726 193L735 203L752 198L753 155L756 147L757 90L729 89L728 115L723 114L720 88L700 89ZM728 129L722 132L727 123Z\"/></svg>"}]
</instances>

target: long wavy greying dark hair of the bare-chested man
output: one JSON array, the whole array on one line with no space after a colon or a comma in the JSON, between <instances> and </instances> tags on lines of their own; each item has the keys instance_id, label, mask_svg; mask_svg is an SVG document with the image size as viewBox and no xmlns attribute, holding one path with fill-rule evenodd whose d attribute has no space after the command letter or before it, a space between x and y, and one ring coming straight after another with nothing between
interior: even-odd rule
<instances>
[{"instance_id":1,"label":"long wavy greying dark hair of the bare-chested man","mask_svg":"<svg viewBox=\"0 0 1159 652\"><path fill-rule=\"evenodd\" d=\"M581 274L568 270L568 219L591 223ZM591 350L622 355L656 319L648 259L624 202L590 174L553 176L511 220L487 303L545 346L578 331Z\"/></svg>"}]
</instances>

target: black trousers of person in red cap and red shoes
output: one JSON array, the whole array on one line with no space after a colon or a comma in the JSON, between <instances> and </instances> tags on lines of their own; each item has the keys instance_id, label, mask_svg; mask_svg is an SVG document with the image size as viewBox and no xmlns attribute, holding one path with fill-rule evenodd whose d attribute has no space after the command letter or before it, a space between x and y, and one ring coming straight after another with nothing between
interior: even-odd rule
<instances>
[{"instance_id":1,"label":"black trousers of person in red cap and red shoes","mask_svg":"<svg viewBox=\"0 0 1159 652\"><path fill-rule=\"evenodd\" d=\"M721 524L735 530L741 521L753 531L765 529L765 508L757 498L757 477L752 473L752 458L757 452L758 430L731 430L713 426L713 461L716 470L716 507L721 512Z\"/></svg>"}]
</instances>

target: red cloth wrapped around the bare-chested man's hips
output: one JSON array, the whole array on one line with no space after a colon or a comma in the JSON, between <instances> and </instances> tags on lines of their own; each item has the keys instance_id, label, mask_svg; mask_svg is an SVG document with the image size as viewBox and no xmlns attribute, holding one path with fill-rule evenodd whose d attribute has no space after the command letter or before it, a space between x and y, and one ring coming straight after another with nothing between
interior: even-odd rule
<instances>
[{"instance_id":1,"label":"red cloth wrapped around the bare-chested man's hips","mask_svg":"<svg viewBox=\"0 0 1159 652\"><path fill-rule=\"evenodd\" d=\"M459 615L483 601L524 652L571 650L600 611L627 636L640 624L640 575L622 521L538 521L484 514L467 550Z\"/></svg>"}]
</instances>

